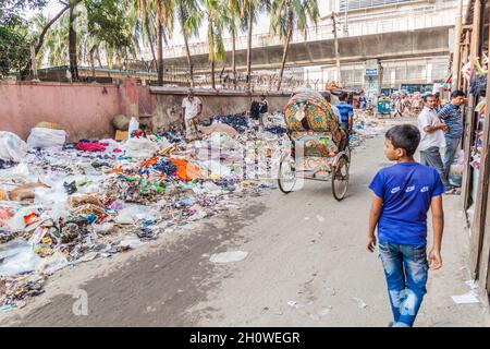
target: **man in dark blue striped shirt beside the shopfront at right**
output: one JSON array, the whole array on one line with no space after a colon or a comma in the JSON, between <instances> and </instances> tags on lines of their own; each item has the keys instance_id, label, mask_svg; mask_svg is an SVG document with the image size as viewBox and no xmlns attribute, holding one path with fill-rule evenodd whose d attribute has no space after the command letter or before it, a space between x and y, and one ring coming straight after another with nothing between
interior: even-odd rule
<instances>
[{"instance_id":1,"label":"man in dark blue striped shirt beside the shopfront at right","mask_svg":"<svg viewBox=\"0 0 490 349\"><path fill-rule=\"evenodd\" d=\"M461 137L463 136L463 115L461 106L465 104L465 94L456 89L451 93L451 101L442 107L438 117L448 125L449 130L445 133L445 154L444 154L444 173L443 181L449 182L449 172L451 164L453 164L456 155ZM448 189L448 188L446 188ZM450 186L450 193L454 193L455 189Z\"/></svg>"}]
</instances>

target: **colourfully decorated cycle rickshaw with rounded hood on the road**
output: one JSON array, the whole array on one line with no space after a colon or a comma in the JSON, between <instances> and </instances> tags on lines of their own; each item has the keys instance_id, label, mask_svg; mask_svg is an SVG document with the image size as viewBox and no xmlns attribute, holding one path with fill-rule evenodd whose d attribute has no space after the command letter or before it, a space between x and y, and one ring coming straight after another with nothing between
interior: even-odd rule
<instances>
[{"instance_id":1,"label":"colourfully decorated cycle rickshaw with rounded hood on the road","mask_svg":"<svg viewBox=\"0 0 490 349\"><path fill-rule=\"evenodd\" d=\"M284 110L291 151L282 154L279 189L287 194L297 179L331 181L335 200L348 189L351 151L344 132L326 99L316 92L294 95Z\"/></svg>"}]
</instances>

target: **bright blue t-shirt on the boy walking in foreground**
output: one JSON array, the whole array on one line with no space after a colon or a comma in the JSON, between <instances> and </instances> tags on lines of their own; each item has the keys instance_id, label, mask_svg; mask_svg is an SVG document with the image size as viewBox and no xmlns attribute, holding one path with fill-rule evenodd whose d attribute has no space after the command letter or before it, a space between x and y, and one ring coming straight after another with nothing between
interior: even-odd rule
<instances>
[{"instance_id":1,"label":"bright blue t-shirt on the boy walking in foreground","mask_svg":"<svg viewBox=\"0 0 490 349\"><path fill-rule=\"evenodd\" d=\"M381 169L369 189L383 200L378 222L380 242L427 244L427 212L432 197L444 193L434 168L401 163Z\"/></svg>"}]
</instances>

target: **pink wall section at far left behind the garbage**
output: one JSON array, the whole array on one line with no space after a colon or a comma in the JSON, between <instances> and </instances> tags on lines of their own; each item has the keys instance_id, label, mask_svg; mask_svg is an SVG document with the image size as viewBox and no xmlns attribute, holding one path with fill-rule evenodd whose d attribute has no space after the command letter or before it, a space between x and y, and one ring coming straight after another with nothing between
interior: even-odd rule
<instances>
[{"instance_id":1,"label":"pink wall section at far left behind the garbage","mask_svg":"<svg viewBox=\"0 0 490 349\"><path fill-rule=\"evenodd\" d=\"M0 130L24 140L42 121L60 124L71 141L113 137L120 112L118 86L0 83Z\"/></svg>"}]
</instances>

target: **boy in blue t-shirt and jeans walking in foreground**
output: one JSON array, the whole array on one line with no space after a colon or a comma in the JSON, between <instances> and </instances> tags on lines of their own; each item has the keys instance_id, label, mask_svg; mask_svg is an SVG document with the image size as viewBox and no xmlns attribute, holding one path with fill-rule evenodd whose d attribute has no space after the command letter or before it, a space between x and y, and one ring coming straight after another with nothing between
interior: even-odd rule
<instances>
[{"instance_id":1,"label":"boy in blue t-shirt and jeans walking in foreground","mask_svg":"<svg viewBox=\"0 0 490 349\"><path fill-rule=\"evenodd\" d=\"M381 169L369 185L375 195L367 250L375 252L378 227L380 258L395 327L413 326L427 293L429 266L431 269L442 266L444 185L436 169L414 160L419 143L420 133L414 125L390 129L385 134L384 153L389 160L397 164ZM433 246L427 260L429 208L432 210Z\"/></svg>"}]
</instances>

